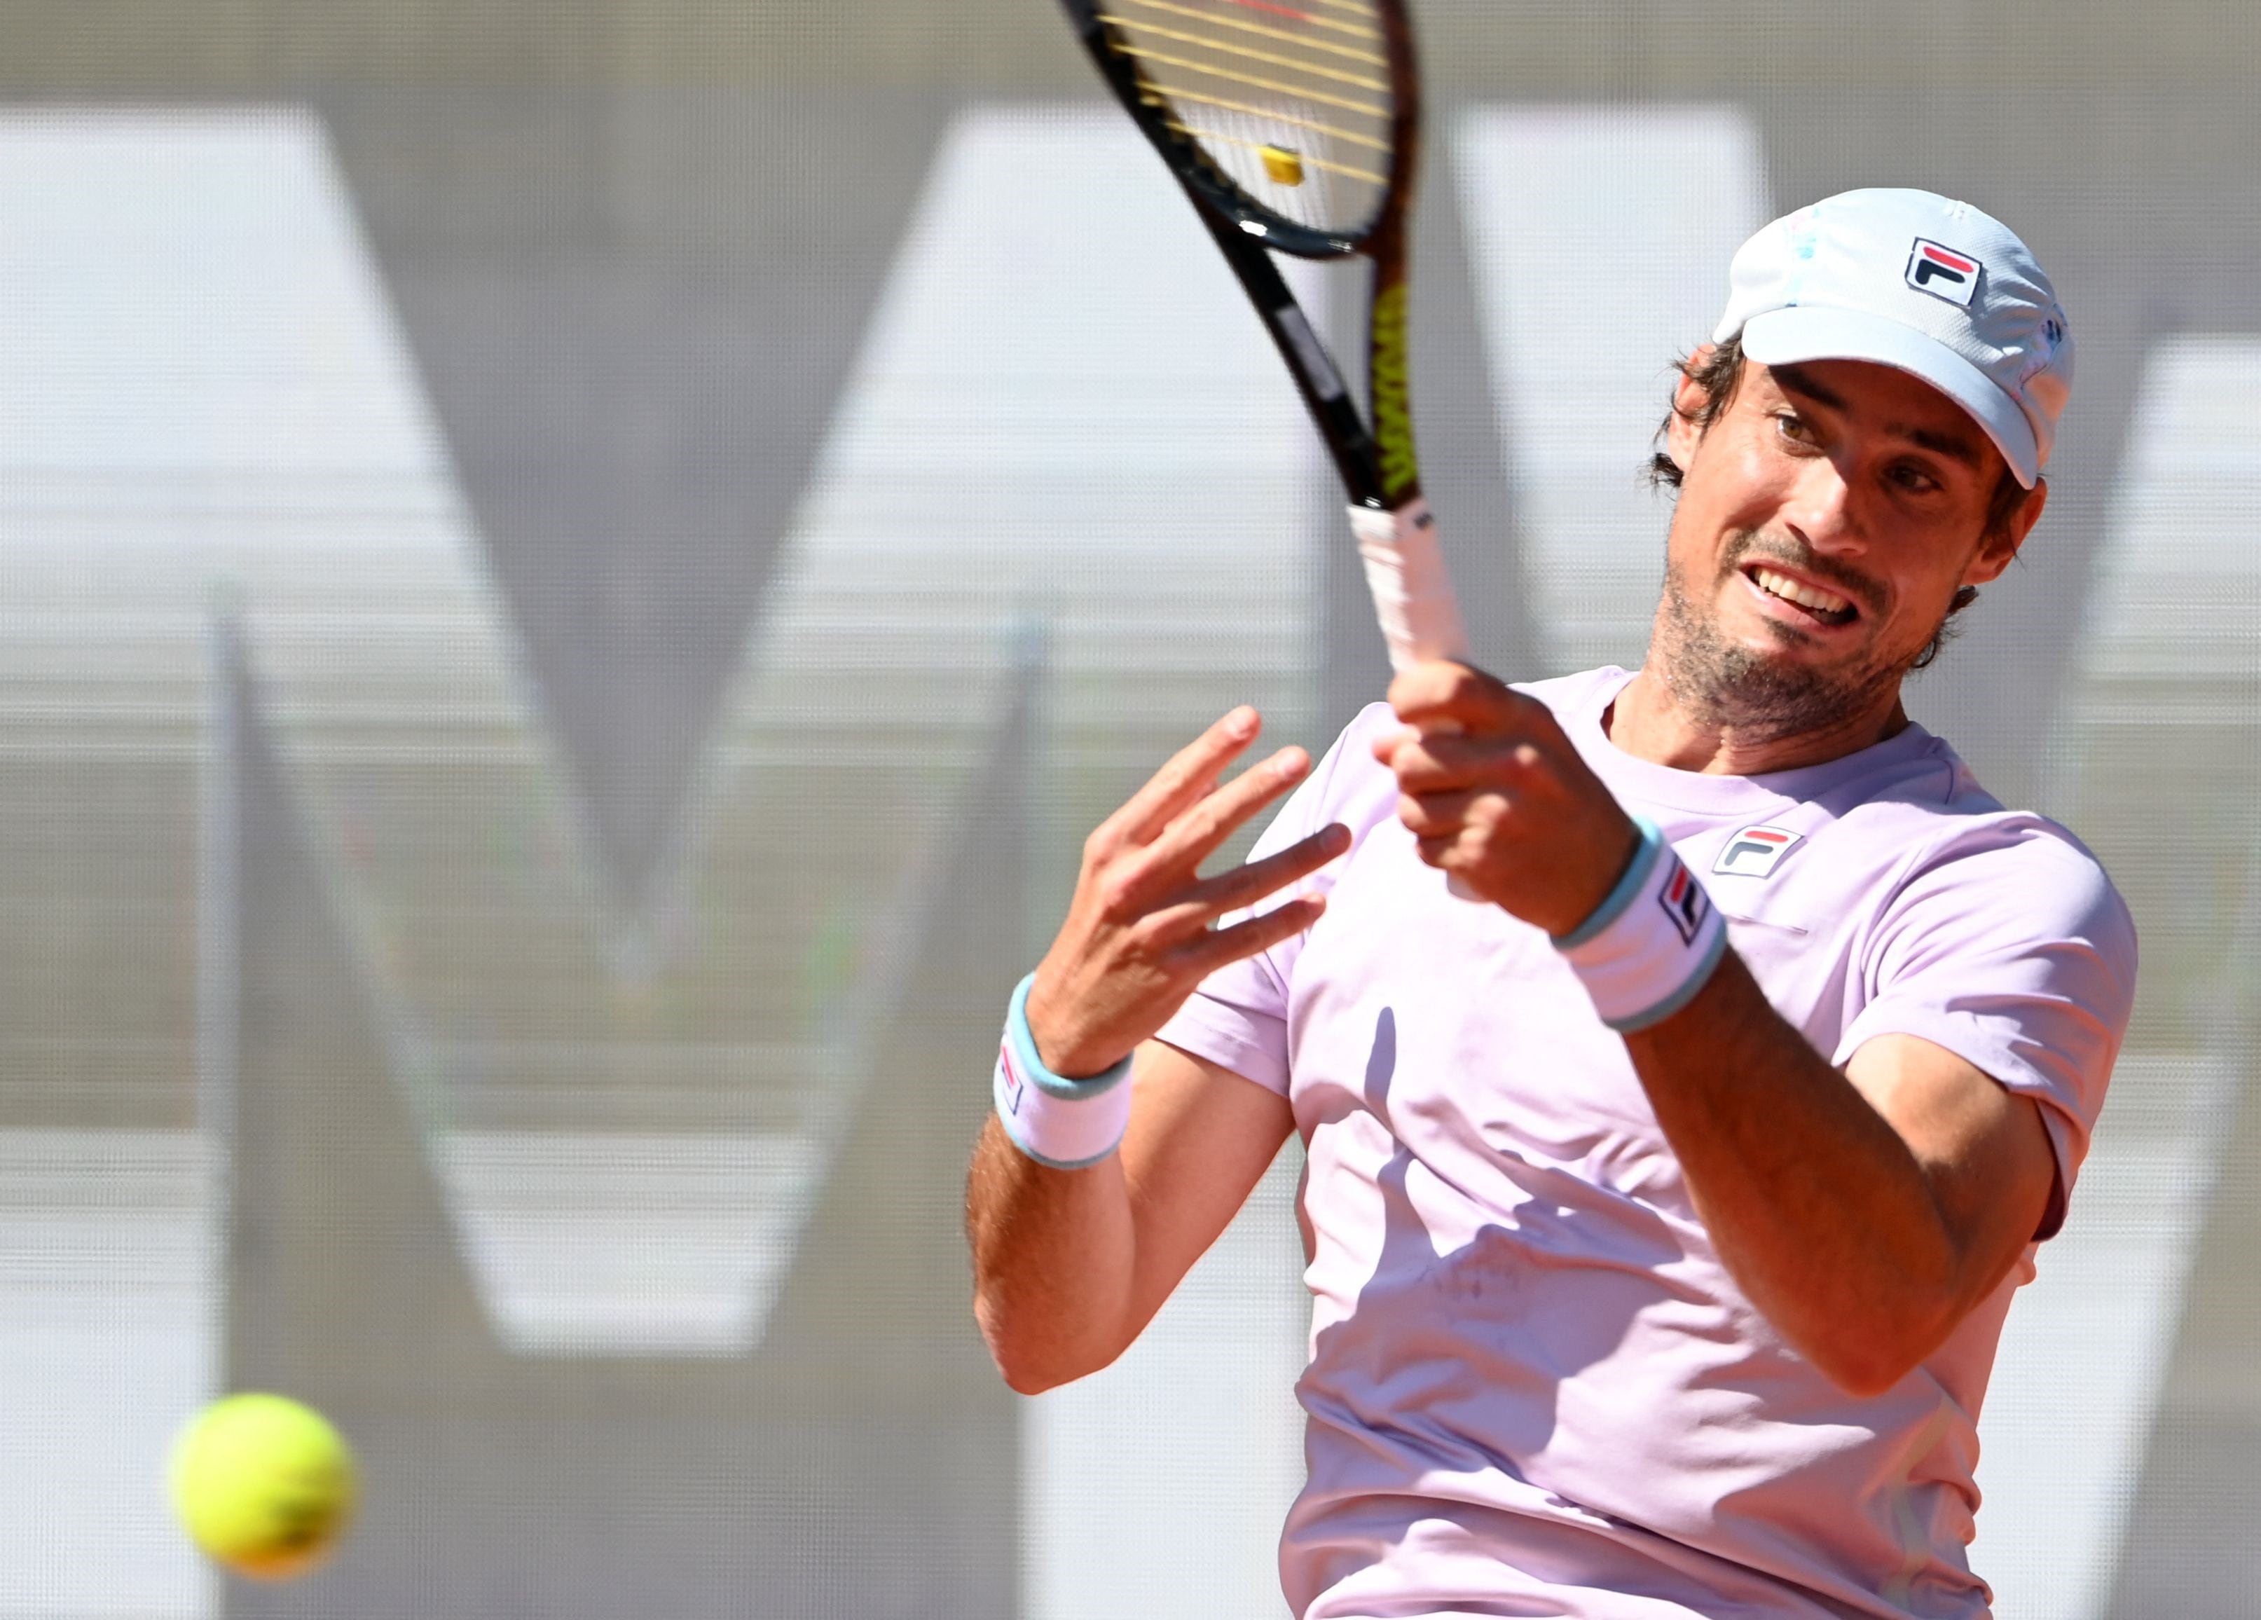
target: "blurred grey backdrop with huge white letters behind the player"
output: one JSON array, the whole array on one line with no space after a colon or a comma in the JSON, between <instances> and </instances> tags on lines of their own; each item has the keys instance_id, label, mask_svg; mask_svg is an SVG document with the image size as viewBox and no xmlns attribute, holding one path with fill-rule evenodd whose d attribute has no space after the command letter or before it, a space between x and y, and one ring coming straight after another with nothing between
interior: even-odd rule
<instances>
[{"instance_id":1,"label":"blurred grey backdrop with huge white letters behind the player","mask_svg":"<svg viewBox=\"0 0 2261 1620\"><path fill-rule=\"evenodd\" d=\"M1418 20L1418 425L1501 674L1592 661L1553 514L1632 514L1651 568L1621 403L1662 414L1741 213L1917 183L2058 278L2048 518L1917 713L2105 855L2146 980L1974 1563L2003 1615L2250 1615L2261 14ZM1323 744L1384 665L1293 400L1183 206L1108 192L1151 163L1056 11L16 0L0 93L0 1613L1248 1613L1291 1423L1207 1514L1255 1575L1171 1518L1232 1493L1198 1434L1110 1434L1235 1358L1284 1398L1277 1199L1178 1348L1031 1414L959 1181L1078 830L1207 713ZM1666 183L1680 129L1725 167ZM1485 186L1544 149L1601 161ZM1544 287L1540 229L1587 242ZM301 1586L163 1523L226 1387L362 1450Z\"/></svg>"}]
</instances>

